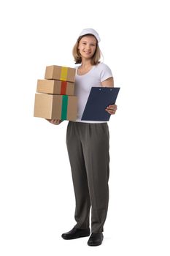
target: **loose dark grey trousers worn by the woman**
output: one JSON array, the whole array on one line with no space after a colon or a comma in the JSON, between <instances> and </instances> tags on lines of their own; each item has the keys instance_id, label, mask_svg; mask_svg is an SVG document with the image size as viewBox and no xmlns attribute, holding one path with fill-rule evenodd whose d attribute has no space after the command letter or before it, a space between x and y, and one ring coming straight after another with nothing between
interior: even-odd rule
<instances>
[{"instance_id":1,"label":"loose dark grey trousers worn by the woman","mask_svg":"<svg viewBox=\"0 0 170 256\"><path fill-rule=\"evenodd\" d=\"M103 231L109 202L109 128L107 123L69 121L66 145L72 169L77 228Z\"/></svg>"}]
</instances>

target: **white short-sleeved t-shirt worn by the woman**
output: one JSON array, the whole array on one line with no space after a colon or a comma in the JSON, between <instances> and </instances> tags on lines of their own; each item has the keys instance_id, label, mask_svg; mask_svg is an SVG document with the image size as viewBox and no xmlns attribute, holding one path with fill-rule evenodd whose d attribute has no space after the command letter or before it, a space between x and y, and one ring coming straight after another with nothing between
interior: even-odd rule
<instances>
[{"instance_id":1,"label":"white short-sleeved t-shirt worn by the woman","mask_svg":"<svg viewBox=\"0 0 170 256\"><path fill-rule=\"evenodd\" d=\"M78 69L78 67L76 67ZM106 121L85 121L81 120L82 113L85 110L85 105L90 94L91 87L101 86L101 82L112 77L112 71L104 63L99 63L90 69L85 75L75 75L75 95L78 98L77 102L77 120L84 123L106 123Z\"/></svg>"}]
</instances>

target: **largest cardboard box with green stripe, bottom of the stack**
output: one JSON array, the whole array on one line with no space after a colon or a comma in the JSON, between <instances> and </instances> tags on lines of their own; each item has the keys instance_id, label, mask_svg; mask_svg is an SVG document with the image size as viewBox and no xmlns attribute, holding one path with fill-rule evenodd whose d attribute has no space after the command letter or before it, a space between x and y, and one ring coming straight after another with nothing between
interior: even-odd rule
<instances>
[{"instance_id":1,"label":"largest cardboard box with green stripe, bottom of the stack","mask_svg":"<svg viewBox=\"0 0 170 256\"><path fill-rule=\"evenodd\" d=\"M74 121L77 118L77 97L35 94L34 117Z\"/></svg>"}]
</instances>

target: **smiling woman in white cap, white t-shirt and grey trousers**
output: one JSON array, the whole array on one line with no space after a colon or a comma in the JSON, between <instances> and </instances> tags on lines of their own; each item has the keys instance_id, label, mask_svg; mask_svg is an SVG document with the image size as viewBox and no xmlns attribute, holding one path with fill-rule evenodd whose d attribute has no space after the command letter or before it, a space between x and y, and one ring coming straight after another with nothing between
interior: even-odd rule
<instances>
[{"instance_id":1,"label":"smiling woman in white cap, white t-shirt and grey trousers","mask_svg":"<svg viewBox=\"0 0 170 256\"><path fill-rule=\"evenodd\" d=\"M66 144L72 169L76 199L75 220L77 224L63 239L90 236L89 246L103 241L103 227L109 201L109 129L106 121L82 121L82 113L92 86L113 87L112 72L100 63L100 37L94 29L83 29L73 48L77 67L75 94L78 97L76 121L69 121ZM115 114L117 105L109 105L106 111ZM50 120L58 124L58 120ZM91 235L89 214L91 207Z\"/></svg>"}]
</instances>

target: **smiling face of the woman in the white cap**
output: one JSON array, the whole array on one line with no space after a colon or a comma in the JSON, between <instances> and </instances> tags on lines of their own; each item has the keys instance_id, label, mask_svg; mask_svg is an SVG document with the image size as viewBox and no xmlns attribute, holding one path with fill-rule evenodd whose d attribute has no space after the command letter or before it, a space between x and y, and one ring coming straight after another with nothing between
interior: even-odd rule
<instances>
[{"instance_id":1,"label":"smiling face of the woman in the white cap","mask_svg":"<svg viewBox=\"0 0 170 256\"><path fill-rule=\"evenodd\" d=\"M85 36L80 39L78 49L82 58L91 59L95 53L97 45L96 37Z\"/></svg>"}]
</instances>

